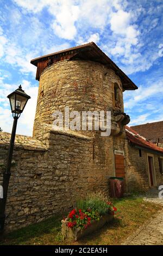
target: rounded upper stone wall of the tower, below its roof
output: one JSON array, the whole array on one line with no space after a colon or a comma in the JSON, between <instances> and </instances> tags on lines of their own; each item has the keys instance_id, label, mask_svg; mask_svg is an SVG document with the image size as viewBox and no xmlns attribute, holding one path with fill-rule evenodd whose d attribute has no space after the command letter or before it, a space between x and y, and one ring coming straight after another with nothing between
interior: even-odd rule
<instances>
[{"instance_id":1,"label":"rounded upper stone wall of the tower, below its roof","mask_svg":"<svg viewBox=\"0 0 163 256\"><path fill-rule=\"evenodd\" d=\"M64 112L65 106L79 112L113 109L115 82L122 89L115 72L97 62L65 60L49 66L40 77L33 136L39 138L40 124L52 125L54 111ZM120 103L123 111L122 92Z\"/></svg>"}]
</instances>

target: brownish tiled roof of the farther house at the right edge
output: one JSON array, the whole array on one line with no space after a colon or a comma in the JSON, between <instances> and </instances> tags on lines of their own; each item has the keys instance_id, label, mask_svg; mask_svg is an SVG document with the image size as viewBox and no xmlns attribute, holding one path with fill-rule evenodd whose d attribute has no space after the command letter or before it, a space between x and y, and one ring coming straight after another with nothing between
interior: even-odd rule
<instances>
[{"instance_id":1,"label":"brownish tiled roof of the farther house at the right edge","mask_svg":"<svg viewBox=\"0 0 163 256\"><path fill-rule=\"evenodd\" d=\"M140 135L163 148L163 121L131 126Z\"/></svg>"}]
</instances>

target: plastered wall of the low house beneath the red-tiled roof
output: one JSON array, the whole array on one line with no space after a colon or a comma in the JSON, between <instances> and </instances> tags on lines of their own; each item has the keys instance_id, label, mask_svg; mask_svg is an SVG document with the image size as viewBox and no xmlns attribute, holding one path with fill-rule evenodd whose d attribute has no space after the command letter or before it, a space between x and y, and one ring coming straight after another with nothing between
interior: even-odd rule
<instances>
[{"instance_id":1,"label":"plastered wall of the low house beneath the red-tiled roof","mask_svg":"<svg viewBox=\"0 0 163 256\"><path fill-rule=\"evenodd\" d=\"M146 191L149 186L147 154L149 151L142 150L139 156L139 149L131 145L126 139L125 143L125 166L127 191ZM151 154L151 153L149 153ZM153 153L152 153L153 154ZM154 156L154 166L157 186L163 184L163 175L160 174L158 155Z\"/></svg>"}]
</instances>

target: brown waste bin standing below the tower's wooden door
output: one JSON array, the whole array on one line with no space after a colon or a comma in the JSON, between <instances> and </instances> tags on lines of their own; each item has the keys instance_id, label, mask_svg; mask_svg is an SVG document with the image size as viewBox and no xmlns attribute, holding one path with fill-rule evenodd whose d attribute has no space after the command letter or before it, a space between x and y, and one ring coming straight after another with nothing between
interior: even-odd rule
<instances>
[{"instance_id":1,"label":"brown waste bin standing below the tower's wooden door","mask_svg":"<svg viewBox=\"0 0 163 256\"><path fill-rule=\"evenodd\" d=\"M124 194L124 179L117 177L109 178L110 197L121 198Z\"/></svg>"}]
</instances>

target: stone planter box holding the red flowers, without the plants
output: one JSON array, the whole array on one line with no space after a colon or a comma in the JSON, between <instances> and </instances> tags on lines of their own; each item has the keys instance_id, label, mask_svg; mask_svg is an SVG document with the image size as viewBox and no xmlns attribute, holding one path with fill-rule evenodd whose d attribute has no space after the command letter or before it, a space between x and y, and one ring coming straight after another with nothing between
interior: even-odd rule
<instances>
[{"instance_id":1,"label":"stone planter box holding the red flowers, without the plants","mask_svg":"<svg viewBox=\"0 0 163 256\"><path fill-rule=\"evenodd\" d=\"M91 223L91 225L89 227L87 227L87 229L83 228L76 228L76 229L72 229L72 228L68 228L67 227L67 220L62 220L62 236L64 236L64 238L68 238L70 240L73 241L77 241L78 239L80 239L83 236L89 235L91 234L93 231L96 231L100 228L103 227L103 225L106 222L110 222L112 221L112 219L114 218L114 215L112 214L106 214L103 217L101 217L101 219L99 221L94 221Z\"/></svg>"}]
</instances>

